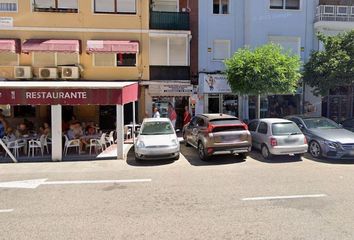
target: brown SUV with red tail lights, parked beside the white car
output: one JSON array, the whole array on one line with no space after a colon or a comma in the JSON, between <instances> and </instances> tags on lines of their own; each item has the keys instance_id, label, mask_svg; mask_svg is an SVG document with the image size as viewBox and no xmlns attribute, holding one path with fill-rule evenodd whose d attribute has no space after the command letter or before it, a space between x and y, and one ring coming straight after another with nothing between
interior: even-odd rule
<instances>
[{"instance_id":1,"label":"brown SUV with red tail lights, parked beside the white car","mask_svg":"<svg viewBox=\"0 0 354 240\"><path fill-rule=\"evenodd\" d=\"M246 158L252 139L247 125L226 114L202 114L192 118L183 128L186 146L198 149L201 160L215 154L239 154Z\"/></svg>"}]
</instances>

